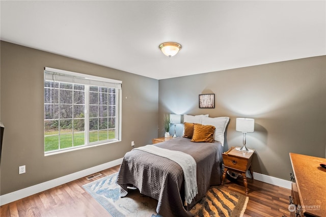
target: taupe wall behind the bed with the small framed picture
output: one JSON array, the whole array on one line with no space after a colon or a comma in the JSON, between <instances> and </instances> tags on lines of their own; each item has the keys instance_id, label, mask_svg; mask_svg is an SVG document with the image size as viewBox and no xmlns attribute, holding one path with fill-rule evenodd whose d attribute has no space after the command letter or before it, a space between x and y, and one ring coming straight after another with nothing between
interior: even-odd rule
<instances>
[{"instance_id":1,"label":"taupe wall behind the bed with the small framed picture","mask_svg":"<svg viewBox=\"0 0 326 217\"><path fill-rule=\"evenodd\" d=\"M215 108L199 109L199 94L215 94ZM242 145L235 118L255 118L246 137L255 172L289 180L289 152L325 157L326 56L159 80L158 97L159 117L229 116L224 150Z\"/></svg>"}]
</instances>

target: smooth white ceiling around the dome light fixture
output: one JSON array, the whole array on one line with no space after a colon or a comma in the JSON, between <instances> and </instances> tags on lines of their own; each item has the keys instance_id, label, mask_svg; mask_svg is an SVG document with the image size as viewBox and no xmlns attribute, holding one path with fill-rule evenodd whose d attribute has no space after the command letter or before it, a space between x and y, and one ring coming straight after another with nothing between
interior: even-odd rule
<instances>
[{"instance_id":1,"label":"smooth white ceiling around the dome light fixture","mask_svg":"<svg viewBox=\"0 0 326 217\"><path fill-rule=\"evenodd\" d=\"M1 1L1 40L155 79L326 55L326 1ZM174 41L171 58L158 49Z\"/></svg>"}]
</instances>

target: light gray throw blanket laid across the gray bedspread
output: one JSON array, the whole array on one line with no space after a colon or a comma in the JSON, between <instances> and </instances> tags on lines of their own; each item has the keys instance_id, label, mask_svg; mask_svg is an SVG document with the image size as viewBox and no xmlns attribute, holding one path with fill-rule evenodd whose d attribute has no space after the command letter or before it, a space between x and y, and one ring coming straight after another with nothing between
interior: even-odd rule
<instances>
[{"instance_id":1,"label":"light gray throw blanket laid across the gray bedspread","mask_svg":"<svg viewBox=\"0 0 326 217\"><path fill-rule=\"evenodd\" d=\"M197 164L192 156L181 151L159 148L154 145L146 145L134 149L146 151L157 156L167 158L179 164L182 168L184 176L184 199L187 204L192 203L192 200L198 193Z\"/></svg>"}]
</instances>

